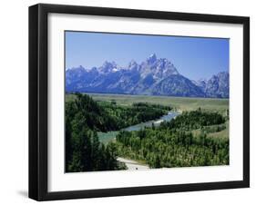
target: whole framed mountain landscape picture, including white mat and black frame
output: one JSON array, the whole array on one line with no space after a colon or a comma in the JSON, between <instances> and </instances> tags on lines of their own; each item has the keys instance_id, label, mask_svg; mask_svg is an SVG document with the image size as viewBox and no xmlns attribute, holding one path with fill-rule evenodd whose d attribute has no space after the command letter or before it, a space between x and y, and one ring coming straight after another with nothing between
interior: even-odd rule
<instances>
[{"instance_id":1,"label":"whole framed mountain landscape picture, including white mat and black frame","mask_svg":"<svg viewBox=\"0 0 256 205\"><path fill-rule=\"evenodd\" d=\"M250 186L250 19L29 7L29 197Z\"/></svg>"}]
</instances>

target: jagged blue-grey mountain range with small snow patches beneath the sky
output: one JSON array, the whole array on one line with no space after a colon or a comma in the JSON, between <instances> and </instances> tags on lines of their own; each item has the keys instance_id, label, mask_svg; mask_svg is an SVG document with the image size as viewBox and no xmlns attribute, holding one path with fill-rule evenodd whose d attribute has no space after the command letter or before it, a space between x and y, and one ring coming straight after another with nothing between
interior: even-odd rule
<instances>
[{"instance_id":1,"label":"jagged blue-grey mountain range with small snow patches beneath the sky","mask_svg":"<svg viewBox=\"0 0 256 205\"><path fill-rule=\"evenodd\" d=\"M168 59L151 54L146 61L131 61L126 67L106 61L90 69L69 68L66 92L229 98L229 79L228 72L220 72L209 80L189 80Z\"/></svg>"}]
</instances>

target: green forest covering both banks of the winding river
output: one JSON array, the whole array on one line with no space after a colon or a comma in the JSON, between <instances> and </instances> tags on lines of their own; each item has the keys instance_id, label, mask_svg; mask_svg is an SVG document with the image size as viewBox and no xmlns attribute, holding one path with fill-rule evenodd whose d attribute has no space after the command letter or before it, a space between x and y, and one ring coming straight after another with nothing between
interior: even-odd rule
<instances>
[{"instance_id":1,"label":"green forest covering both banks of the winding river","mask_svg":"<svg viewBox=\"0 0 256 205\"><path fill-rule=\"evenodd\" d=\"M229 164L229 138L210 137L226 129L229 116L218 112L182 112L158 126L125 131L130 125L159 119L171 107L147 102L120 105L96 102L77 93L66 102L66 171L115 171L127 169L118 157L140 161L150 168ZM98 132L118 131L103 144Z\"/></svg>"}]
</instances>

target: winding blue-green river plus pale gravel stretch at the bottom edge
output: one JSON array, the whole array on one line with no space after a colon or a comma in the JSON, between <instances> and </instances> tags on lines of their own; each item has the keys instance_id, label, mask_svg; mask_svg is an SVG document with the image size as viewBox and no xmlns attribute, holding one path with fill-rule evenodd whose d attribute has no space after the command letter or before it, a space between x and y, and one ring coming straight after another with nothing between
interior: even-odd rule
<instances>
[{"instance_id":1,"label":"winding blue-green river plus pale gravel stretch at the bottom edge","mask_svg":"<svg viewBox=\"0 0 256 205\"><path fill-rule=\"evenodd\" d=\"M161 122L169 122L178 115L179 115L179 112L168 112L168 114L161 116L159 119L148 121L148 122L141 122L141 123L129 126L124 130L128 132L132 132L132 131L139 131L140 129L143 129L145 127L152 127L152 124L154 124L154 126L159 126ZM116 140L116 136L118 135L118 132L119 131L97 132L97 134L100 142L108 143ZM148 165L139 164L138 161L128 160L121 157L118 157L118 161L124 162L127 165L128 170L148 170L149 169Z\"/></svg>"}]
</instances>

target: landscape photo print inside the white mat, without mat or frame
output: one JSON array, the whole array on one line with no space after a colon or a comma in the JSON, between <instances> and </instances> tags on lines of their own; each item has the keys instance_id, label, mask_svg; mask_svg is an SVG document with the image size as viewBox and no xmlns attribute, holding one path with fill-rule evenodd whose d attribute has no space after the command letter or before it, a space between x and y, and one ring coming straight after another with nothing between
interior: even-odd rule
<instances>
[{"instance_id":1,"label":"landscape photo print inside the white mat, without mat or frame","mask_svg":"<svg viewBox=\"0 0 256 205\"><path fill-rule=\"evenodd\" d=\"M229 165L229 48L66 31L66 172Z\"/></svg>"}]
</instances>

